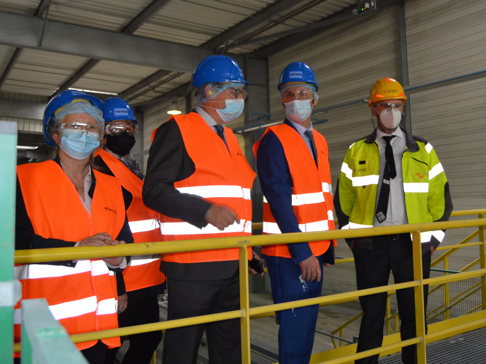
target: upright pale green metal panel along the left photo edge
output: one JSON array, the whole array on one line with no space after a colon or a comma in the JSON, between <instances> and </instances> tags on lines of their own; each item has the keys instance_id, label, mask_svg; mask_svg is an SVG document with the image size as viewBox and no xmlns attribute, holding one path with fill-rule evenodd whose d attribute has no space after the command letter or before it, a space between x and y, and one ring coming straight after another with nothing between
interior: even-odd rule
<instances>
[{"instance_id":1,"label":"upright pale green metal panel along the left photo edge","mask_svg":"<svg viewBox=\"0 0 486 364\"><path fill-rule=\"evenodd\" d=\"M0 363L13 363L17 123L0 121Z\"/></svg>"}]
</instances>

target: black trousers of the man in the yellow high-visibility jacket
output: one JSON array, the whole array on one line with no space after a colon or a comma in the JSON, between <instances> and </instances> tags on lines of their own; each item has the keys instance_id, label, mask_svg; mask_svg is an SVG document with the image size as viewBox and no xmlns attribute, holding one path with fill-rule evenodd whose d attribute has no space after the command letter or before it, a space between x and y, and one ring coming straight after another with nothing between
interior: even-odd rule
<instances>
[{"instance_id":1,"label":"black trousers of the man in the yellow high-visibility jacket","mask_svg":"<svg viewBox=\"0 0 486 364\"><path fill-rule=\"evenodd\" d=\"M352 247L356 265L358 289L379 287L388 284L390 270L395 283L413 281L412 241L409 234L400 234L398 239L389 236L376 236L371 239L370 248ZM423 278L429 278L431 251L422 255ZM424 286L424 306L427 311L429 287ZM383 325L386 312L387 293L360 297L363 318L361 319L358 348L356 352L381 347ZM397 290L399 317L401 320L401 339L416 336L414 289ZM427 322L425 323L427 329ZM356 364L378 364L379 355L355 361ZM417 363L417 346L402 348L402 361L405 364Z\"/></svg>"}]
</instances>

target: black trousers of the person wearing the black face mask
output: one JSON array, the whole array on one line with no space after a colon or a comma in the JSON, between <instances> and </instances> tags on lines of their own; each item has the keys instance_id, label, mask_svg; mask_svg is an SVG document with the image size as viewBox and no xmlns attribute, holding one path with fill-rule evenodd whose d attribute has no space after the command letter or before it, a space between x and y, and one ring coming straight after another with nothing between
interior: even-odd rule
<instances>
[{"instance_id":1,"label":"black trousers of the person wearing the black face mask","mask_svg":"<svg viewBox=\"0 0 486 364\"><path fill-rule=\"evenodd\" d=\"M159 307L156 295L133 299L135 294L128 292L128 306L118 315L120 327L151 324L159 322ZM160 340L162 331L143 332L129 335L130 346L123 356L122 364L149 364ZM123 340L121 338L121 340ZM118 347L108 349L104 364L113 364L118 352Z\"/></svg>"}]
</instances>

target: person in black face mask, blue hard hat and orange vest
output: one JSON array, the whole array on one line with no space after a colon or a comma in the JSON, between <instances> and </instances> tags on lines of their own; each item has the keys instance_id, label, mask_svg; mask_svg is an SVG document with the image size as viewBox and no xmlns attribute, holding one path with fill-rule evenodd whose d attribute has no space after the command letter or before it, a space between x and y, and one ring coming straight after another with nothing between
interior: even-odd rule
<instances>
[{"instance_id":1,"label":"person in black face mask, blue hard hat and orange vest","mask_svg":"<svg viewBox=\"0 0 486 364\"><path fill-rule=\"evenodd\" d=\"M126 208L128 223L135 243L161 241L157 213L142 201L145 178L130 150L135 145L138 121L131 106L123 99L102 101L104 117L104 145L95 154L95 163L106 174L121 182L123 193L132 195ZM127 266L126 273L117 274L118 321L120 327L149 324L159 321L157 294L165 289L165 275L160 271L158 256L134 256L136 262ZM126 293L125 293L126 292ZM123 364L148 364L162 338L161 331L129 335L130 346ZM105 364L113 364L118 348L108 350Z\"/></svg>"}]
</instances>

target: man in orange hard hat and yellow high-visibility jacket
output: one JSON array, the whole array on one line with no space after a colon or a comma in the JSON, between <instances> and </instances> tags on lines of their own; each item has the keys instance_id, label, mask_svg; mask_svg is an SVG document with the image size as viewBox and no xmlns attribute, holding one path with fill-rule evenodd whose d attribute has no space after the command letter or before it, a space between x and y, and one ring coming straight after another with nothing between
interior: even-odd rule
<instances>
[{"instance_id":1,"label":"man in orange hard hat and yellow high-visibility jacket","mask_svg":"<svg viewBox=\"0 0 486 364\"><path fill-rule=\"evenodd\" d=\"M425 139L399 128L402 86L392 78L378 80L368 105L378 128L352 144L341 167L334 207L341 229L447 221L452 212L449 182L435 150ZM429 278L431 255L444 231L420 233L423 278ZM355 265L358 289L413 281L410 233L347 239ZM428 286L424 286L427 308ZM387 293L360 297L363 318L357 352L380 347L383 340ZM414 290L397 290L401 339L416 336ZM427 327L427 326L426 326ZM415 345L403 347L402 361L417 363ZM378 354L357 360L378 364Z\"/></svg>"}]
</instances>

